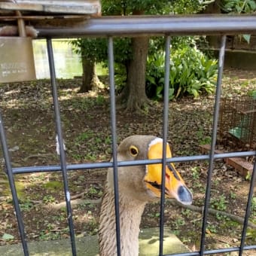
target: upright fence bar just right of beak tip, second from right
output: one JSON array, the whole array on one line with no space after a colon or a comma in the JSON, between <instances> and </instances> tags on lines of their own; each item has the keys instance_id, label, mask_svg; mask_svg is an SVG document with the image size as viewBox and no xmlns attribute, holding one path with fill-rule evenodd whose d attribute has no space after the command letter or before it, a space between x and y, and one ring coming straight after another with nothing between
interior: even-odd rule
<instances>
[{"instance_id":1,"label":"upright fence bar just right of beak tip, second from right","mask_svg":"<svg viewBox=\"0 0 256 256\"><path fill-rule=\"evenodd\" d=\"M221 78L223 74L224 68L224 54L226 47L226 35L222 35L221 37L221 49L218 56L218 78L217 78L217 88L215 93L215 108L214 108L214 117L212 124L212 143L211 143L211 151L210 151L210 159L209 159L209 170L207 176L207 184L206 184L206 199L205 199L205 207L203 210L203 225L202 225L202 233L201 233L201 244L200 244L200 255L203 255L204 246L206 242L206 225L207 225L207 215L209 210L209 202L210 202L210 194L212 187L212 170L214 168L214 155L215 155L215 145L217 138L217 128L218 128L218 114L220 107L220 99L221 99Z\"/></svg>"}]
</instances>

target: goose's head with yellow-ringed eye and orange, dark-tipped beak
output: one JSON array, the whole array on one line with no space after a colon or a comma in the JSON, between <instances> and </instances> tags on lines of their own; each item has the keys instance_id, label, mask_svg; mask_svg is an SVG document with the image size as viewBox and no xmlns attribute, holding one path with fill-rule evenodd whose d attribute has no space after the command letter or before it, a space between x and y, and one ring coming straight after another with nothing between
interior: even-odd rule
<instances>
[{"instance_id":1,"label":"goose's head with yellow-ringed eye and orange, dark-tipped beak","mask_svg":"<svg viewBox=\"0 0 256 256\"><path fill-rule=\"evenodd\" d=\"M163 157L163 139L155 136L130 136L117 148L117 160L153 160ZM172 157L169 145L166 145L166 158ZM192 203L192 194L173 163L165 166L165 195L188 205ZM113 172L108 172L108 186L114 189ZM120 197L126 203L141 201L151 202L159 199L162 187L162 163L146 166L118 167L118 184Z\"/></svg>"}]
</instances>

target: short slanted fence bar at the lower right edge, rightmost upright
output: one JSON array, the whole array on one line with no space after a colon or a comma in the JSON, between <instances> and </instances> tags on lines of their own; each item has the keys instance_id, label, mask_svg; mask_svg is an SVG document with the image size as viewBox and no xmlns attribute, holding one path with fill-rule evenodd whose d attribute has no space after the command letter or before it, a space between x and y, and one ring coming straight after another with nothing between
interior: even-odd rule
<instances>
[{"instance_id":1,"label":"short slanted fence bar at the lower right edge, rightmost upright","mask_svg":"<svg viewBox=\"0 0 256 256\"><path fill-rule=\"evenodd\" d=\"M256 156L255 156L256 157ZM248 220L251 214L251 200L254 194L254 185L256 182L256 160L254 162L254 167L251 175L251 184L250 184L250 189L248 192L248 201L247 201L247 206L246 206L246 211L245 211L245 221L243 223L242 227L242 238L241 238L241 243L240 243L240 250L239 250L239 256L242 256L243 248L245 246L245 236L246 236L246 230L248 227Z\"/></svg>"}]
</instances>

